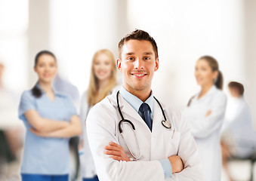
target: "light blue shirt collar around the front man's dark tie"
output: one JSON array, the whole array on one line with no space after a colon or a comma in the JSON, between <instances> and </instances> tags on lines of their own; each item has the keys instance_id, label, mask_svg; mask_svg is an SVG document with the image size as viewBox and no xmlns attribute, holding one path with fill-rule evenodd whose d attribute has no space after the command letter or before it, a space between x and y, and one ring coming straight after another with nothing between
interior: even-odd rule
<instances>
[{"instance_id":1,"label":"light blue shirt collar around the front man's dark tie","mask_svg":"<svg viewBox=\"0 0 256 181\"><path fill-rule=\"evenodd\" d=\"M125 87L121 87L120 94L122 97L136 110L136 112L139 112L140 105L143 103L139 98L135 97L133 94L129 93L127 90L125 90ZM150 106L151 112L154 110L154 98L153 94L151 92L150 97L147 98L145 101Z\"/></svg>"}]
</instances>

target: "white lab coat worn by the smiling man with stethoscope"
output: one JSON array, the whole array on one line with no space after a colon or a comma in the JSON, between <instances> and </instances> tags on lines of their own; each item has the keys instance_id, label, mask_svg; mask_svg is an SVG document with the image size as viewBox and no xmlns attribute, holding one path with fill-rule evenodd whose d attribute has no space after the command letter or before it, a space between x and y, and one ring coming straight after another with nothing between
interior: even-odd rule
<instances>
[{"instance_id":1,"label":"white lab coat worn by the smiling man with stethoscope","mask_svg":"<svg viewBox=\"0 0 256 181\"><path fill-rule=\"evenodd\" d=\"M139 150L143 159L140 161L115 161L104 154L104 146L109 142L118 143L131 158L127 146L122 139L118 124L121 120L116 103L116 91L95 105L87 118L88 141L94 157L97 175L100 180L199 180L202 181L202 164L199 159L196 143L190 133L187 122L180 112L162 104L168 121L171 121L171 130L162 126L161 109L154 101L153 130L140 115L119 94L119 103L124 117L134 124L136 129ZM126 127L125 127L126 125ZM126 138L131 152L138 152L134 134L128 124L124 125L124 132L128 130L130 137ZM174 132L175 129L175 132ZM127 133L128 133L127 132ZM173 138L171 138L173 137ZM131 140L129 139L131 138ZM184 170L174 173L171 178L164 179L161 159L171 155L179 155L184 161Z\"/></svg>"}]
</instances>

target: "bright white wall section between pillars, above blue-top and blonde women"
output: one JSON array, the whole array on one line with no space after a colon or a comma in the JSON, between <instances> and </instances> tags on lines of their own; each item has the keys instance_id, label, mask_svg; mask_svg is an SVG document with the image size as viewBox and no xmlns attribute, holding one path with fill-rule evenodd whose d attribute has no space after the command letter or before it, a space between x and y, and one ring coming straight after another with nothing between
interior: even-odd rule
<instances>
[{"instance_id":1,"label":"bright white wall section between pillars, above blue-top and blonde women","mask_svg":"<svg viewBox=\"0 0 256 181\"><path fill-rule=\"evenodd\" d=\"M60 74L80 94L88 87L93 54L108 48L117 56L118 5L122 5L118 0L51 1L50 46L58 57Z\"/></svg>"}]
</instances>

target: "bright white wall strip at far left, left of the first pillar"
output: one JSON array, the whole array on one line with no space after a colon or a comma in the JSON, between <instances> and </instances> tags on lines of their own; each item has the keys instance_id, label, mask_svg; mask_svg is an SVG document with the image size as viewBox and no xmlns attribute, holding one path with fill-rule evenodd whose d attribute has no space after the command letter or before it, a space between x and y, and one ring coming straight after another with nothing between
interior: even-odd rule
<instances>
[{"instance_id":1,"label":"bright white wall strip at far left, left of the first pillar","mask_svg":"<svg viewBox=\"0 0 256 181\"><path fill-rule=\"evenodd\" d=\"M20 92L28 84L28 0L0 1L0 62L5 64L4 85ZM20 81L23 80L23 81Z\"/></svg>"}]
</instances>

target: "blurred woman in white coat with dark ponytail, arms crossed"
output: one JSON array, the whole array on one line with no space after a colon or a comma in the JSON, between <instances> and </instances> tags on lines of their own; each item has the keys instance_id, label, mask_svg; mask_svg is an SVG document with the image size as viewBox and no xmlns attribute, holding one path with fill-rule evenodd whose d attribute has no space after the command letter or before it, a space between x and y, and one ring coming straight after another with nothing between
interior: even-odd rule
<instances>
[{"instance_id":1,"label":"blurred woman in white coat with dark ponytail, arms crossed","mask_svg":"<svg viewBox=\"0 0 256 181\"><path fill-rule=\"evenodd\" d=\"M220 132L227 97L222 91L223 75L217 60L210 56L199 58L195 77L201 90L190 99L184 118L199 148L205 181L221 180Z\"/></svg>"}]
</instances>

